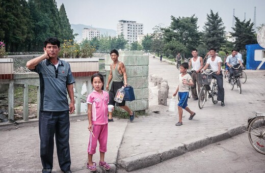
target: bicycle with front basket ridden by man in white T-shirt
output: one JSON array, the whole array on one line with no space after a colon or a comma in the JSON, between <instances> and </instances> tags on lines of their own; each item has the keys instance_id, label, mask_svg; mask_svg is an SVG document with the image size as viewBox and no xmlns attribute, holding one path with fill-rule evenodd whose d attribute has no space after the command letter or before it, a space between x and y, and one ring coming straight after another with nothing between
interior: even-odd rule
<instances>
[{"instance_id":1,"label":"bicycle with front basket ridden by man in white T-shirt","mask_svg":"<svg viewBox=\"0 0 265 173\"><path fill-rule=\"evenodd\" d=\"M211 98L211 101L213 101L214 104L218 103L217 81L216 81L216 78L213 75L211 75L214 72L206 73L204 70L202 71L203 72L199 73L198 75L199 83L202 84L201 91L199 94L199 100L198 100L198 105L200 109L203 108L205 102L207 101L207 93L208 93L208 98ZM212 88L210 89L211 79L214 79L214 82L213 82Z\"/></svg>"}]
</instances>

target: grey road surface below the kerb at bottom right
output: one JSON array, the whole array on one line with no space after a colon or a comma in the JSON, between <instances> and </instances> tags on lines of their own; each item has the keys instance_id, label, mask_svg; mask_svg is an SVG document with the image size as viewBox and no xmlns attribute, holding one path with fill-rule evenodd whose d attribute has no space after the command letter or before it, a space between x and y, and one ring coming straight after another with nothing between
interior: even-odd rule
<instances>
[{"instance_id":1,"label":"grey road surface below the kerb at bottom right","mask_svg":"<svg viewBox=\"0 0 265 173\"><path fill-rule=\"evenodd\" d=\"M252 148L247 133L243 133L131 173L264 172L264 162L264 155Z\"/></svg>"}]
</instances>

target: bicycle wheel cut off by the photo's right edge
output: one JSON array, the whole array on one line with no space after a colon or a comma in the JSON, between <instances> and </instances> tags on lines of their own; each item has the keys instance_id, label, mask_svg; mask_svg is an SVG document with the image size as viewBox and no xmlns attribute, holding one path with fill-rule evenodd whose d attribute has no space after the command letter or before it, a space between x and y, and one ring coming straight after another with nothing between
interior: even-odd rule
<instances>
[{"instance_id":1,"label":"bicycle wheel cut off by the photo's right edge","mask_svg":"<svg viewBox=\"0 0 265 173\"><path fill-rule=\"evenodd\" d=\"M265 154L265 116L255 117L248 126L248 138L252 147Z\"/></svg>"}]
</instances>

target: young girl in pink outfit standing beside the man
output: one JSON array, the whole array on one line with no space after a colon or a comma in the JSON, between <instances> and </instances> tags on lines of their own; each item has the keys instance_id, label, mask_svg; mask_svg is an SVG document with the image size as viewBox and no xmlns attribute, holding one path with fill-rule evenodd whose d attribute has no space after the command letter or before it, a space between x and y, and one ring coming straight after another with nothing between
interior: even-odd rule
<instances>
[{"instance_id":1,"label":"young girl in pink outfit standing beside the man","mask_svg":"<svg viewBox=\"0 0 265 173\"><path fill-rule=\"evenodd\" d=\"M87 97L88 103L88 130L90 131L88 143L88 163L87 168L95 172L96 163L92 161L93 154L96 153L97 140L99 142L100 161L99 166L105 170L110 170L110 165L104 161L107 152L108 139L108 103L109 94L104 89L104 78L100 73L95 73L91 77L91 84L94 91Z\"/></svg>"}]
</instances>

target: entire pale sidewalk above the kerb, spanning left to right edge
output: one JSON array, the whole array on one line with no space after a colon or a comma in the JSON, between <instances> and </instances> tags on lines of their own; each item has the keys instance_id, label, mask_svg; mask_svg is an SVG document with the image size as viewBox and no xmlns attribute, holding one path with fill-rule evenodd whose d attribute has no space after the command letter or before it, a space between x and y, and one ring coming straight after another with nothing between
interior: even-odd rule
<instances>
[{"instance_id":1,"label":"entire pale sidewalk above the kerb, spanning left to right edge","mask_svg":"<svg viewBox=\"0 0 265 173\"><path fill-rule=\"evenodd\" d=\"M225 106L214 105L208 100L203 109L198 101L189 99L188 105L196 112L192 121L189 113L183 111L183 125L175 126L177 111L169 112L168 106L157 105L157 86L149 83L148 116L138 117L133 123L128 120L114 119L109 123L108 152L105 161L111 164L108 172L126 172L151 166L172 157L179 156L217 142L246 128L247 119L252 111L264 111L265 71L248 71L247 82L242 85L242 94L230 90L224 81ZM168 80L169 96L177 86L178 70L174 65L149 58L149 74L156 74ZM131 83L133 85L133 83ZM169 99L168 99L169 103ZM153 113L154 110L160 114ZM87 116L71 117L70 150L71 170L89 172L86 169L89 131ZM40 172L42 169L39 154L38 122L21 123L0 128L0 172ZM246 141L249 142L249 141ZM99 152L93 156L98 165ZM97 166L98 172L105 172ZM54 154L54 169L62 172Z\"/></svg>"}]
</instances>

